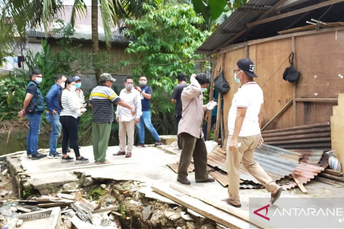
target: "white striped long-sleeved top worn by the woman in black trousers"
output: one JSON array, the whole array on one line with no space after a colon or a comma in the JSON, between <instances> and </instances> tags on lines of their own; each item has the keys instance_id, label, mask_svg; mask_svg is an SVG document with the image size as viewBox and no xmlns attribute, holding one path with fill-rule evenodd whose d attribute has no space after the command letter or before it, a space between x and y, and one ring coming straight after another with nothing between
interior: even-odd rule
<instances>
[{"instance_id":1,"label":"white striped long-sleeved top worn by the woman in black trousers","mask_svg":"<svg viewBox=\"0 0 344 229\"><path fill-rule=\"evenodd\" d=\"M63 90L61 95L62 111L60 116L73 116L77 118L77 110L80 108L76 96L69 90Z\"/></svg>"}]
</instances>

